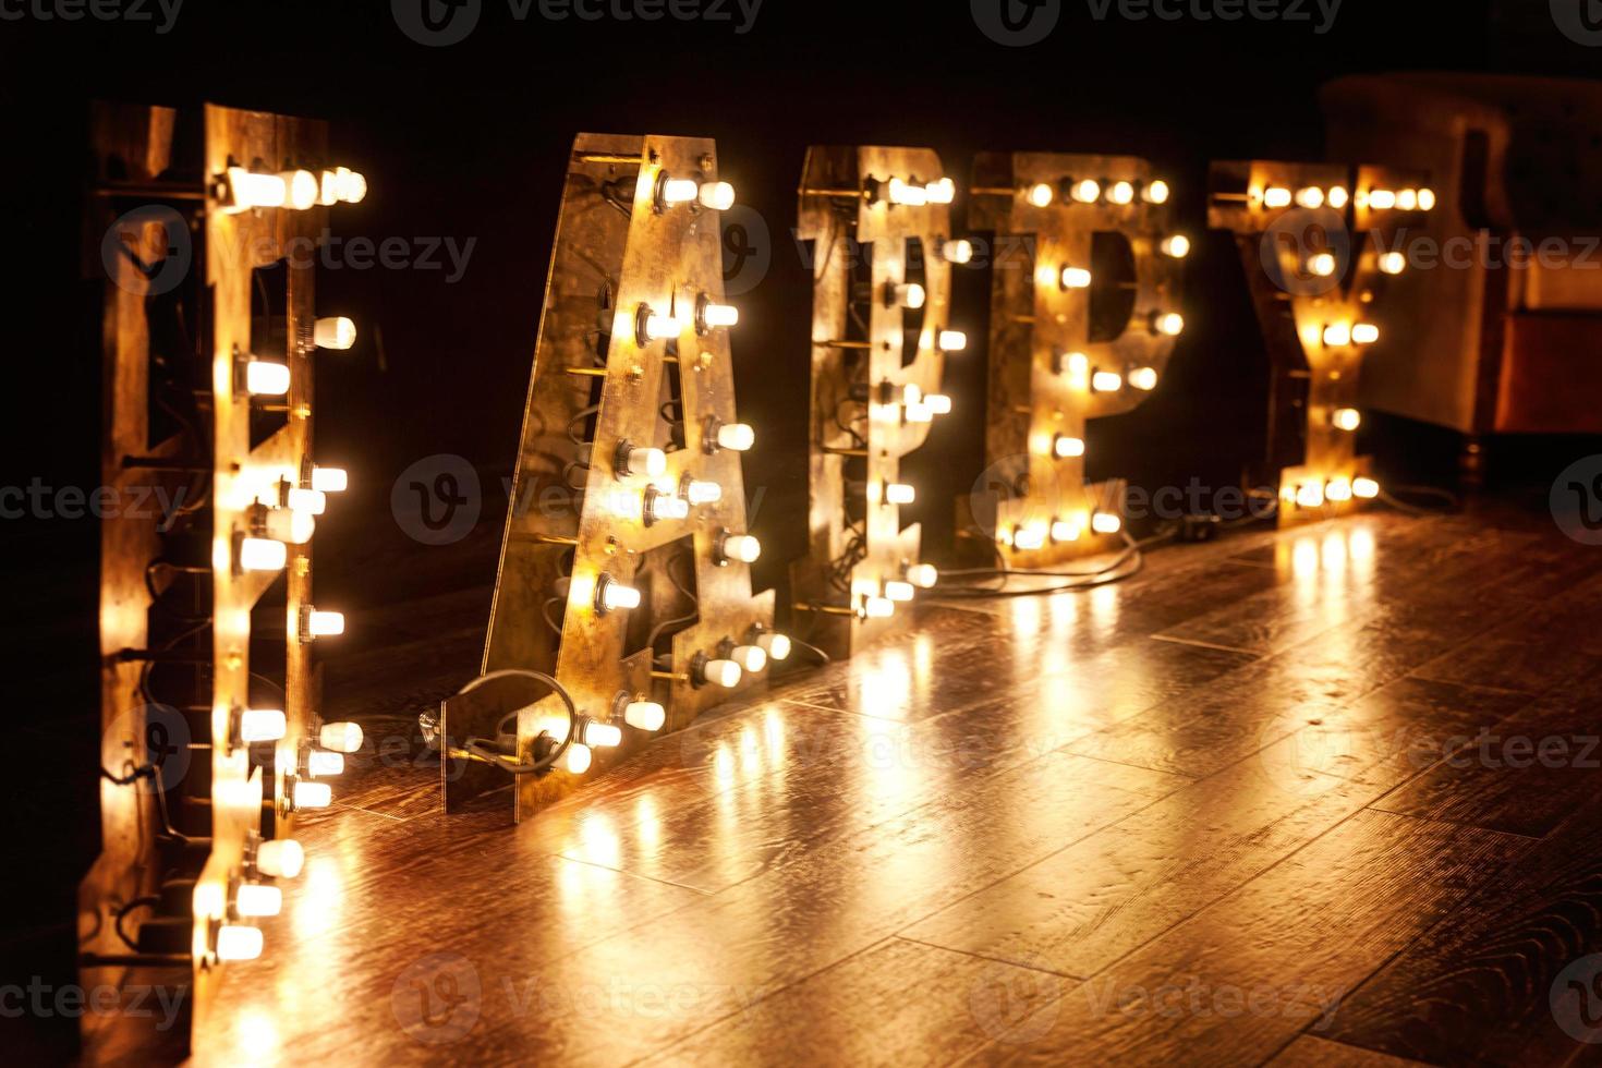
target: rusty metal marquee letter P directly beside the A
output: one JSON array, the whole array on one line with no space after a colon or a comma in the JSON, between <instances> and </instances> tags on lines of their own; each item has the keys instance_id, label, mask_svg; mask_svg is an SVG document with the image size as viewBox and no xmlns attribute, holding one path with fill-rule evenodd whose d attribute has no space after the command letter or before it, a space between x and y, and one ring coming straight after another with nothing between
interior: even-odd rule
<instances>
[{"instance_id":1,"label":"rusty metal marquee letter P directly beside the A","mask_svg":"<svg viewBox=\"0 0 1602 1068\"><path fill-rule=\"evenodd\" d=\"M814 264L811 504L809 554L791 564L790 576L798 628L833 656L900 624L865 618L862 605L918 564L921 528L902 528L900 508L883 493L929 424L905 421L884 397L907 386L940 391L939 336L952 311L942 247L953 234L948 203L891 203L888 183L944 178L929 149L814 146L803 167L798 235L812 242ZM920 267L920 311L886 299L889 287Z\"/></svg>"}]
</instances>

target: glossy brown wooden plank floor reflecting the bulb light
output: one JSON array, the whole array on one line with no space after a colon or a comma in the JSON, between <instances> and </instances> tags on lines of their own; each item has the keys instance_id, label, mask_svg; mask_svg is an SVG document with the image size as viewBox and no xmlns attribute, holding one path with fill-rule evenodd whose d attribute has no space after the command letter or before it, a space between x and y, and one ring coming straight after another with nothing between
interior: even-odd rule
<instances>
[{"instance_id":1,"label":"glossy brown wooden plank floor reflecting the bulb light","mask_svg":"<svg viewBox=\"0 0 1602 1068\"><path fill-rule=\"evenodd\" d=\"M516 828L405 741L487 600L352 615L367 753L202 1062L1602 1063L1602 982L1552 1004L1602 953L1602 552L1549 524L929 604Z\"/></svg>"}]
</instances>

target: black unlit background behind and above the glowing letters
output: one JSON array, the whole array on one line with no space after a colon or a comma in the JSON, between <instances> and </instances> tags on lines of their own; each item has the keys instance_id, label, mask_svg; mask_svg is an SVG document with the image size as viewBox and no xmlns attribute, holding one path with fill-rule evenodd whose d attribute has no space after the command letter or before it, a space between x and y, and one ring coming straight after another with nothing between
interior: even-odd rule
<instances>
[{"instance_id":1,"label":"black unlit background behind and above the glowing letters","mask_svg":"<svg viewBox=\"0 0 1602 1068\"><path fill-rule=\"evenodd\" d=\"M409 576L349 560L373 546L431 551L389 516L389 488L410 463L461 455L484 472L485 524L505 508L495 498L516 450L578 131L716 138L724 178L767 224L772 266L739 299L734 351L740 412L759 434L745 468L748 495L764 493L756 580L772 586L804 541L811 311L790 227L807 144L929 146L960 187L987 149L1150 159L1176 191L1176 224L1198 239L1189 330L1150 402L1093 429L1091 474L1222 487L1256 458L1266 360L1234 248L1205 234L1208 160L1318 159L1315 90L1344 74L1602 69L1602 50L1556 30L1548 0L1346 0L1323 35L1314 22L1099 22L1085 0L1064 0L1057 29L1028 48L990 42L966 0L766 0L751 32L734 27L549 22L537 11L519 22L505 0L484 0L476 32L449 48L404 37L388 0L187 0L167 35L154 22L0 21L11 250L0 290L11 384L0 482L98 482L101 279L80 256L85 117L96 98L325 118L335 155L372 187L362 205L332 213L338 235L476 239L455 285L444 271L381 267L317 280L320 311L360 330L351 352L319 365L319 455L352 472L352 493L320 528L319 600L359 610L394 599ZM934 559L950 541L952 498L980 468L987 285L982 272L960 272L953 325L972 344L948 365L958 410L908 461L910 480L926 487L916 514ZM1367 434L1383 472L1403 460L1426 476L1450 472L1453 436L1384 420ZM1543 464L1511 474L1540 482ZM0 546L16 596L5 626L8 656L19 660L8 673L13 759L40 780L11 810L22 834L8 882L24 911L10 913L19 932L0 945L37 972L32 948L70 930L69 887L96 850L95 737L83 733L96 722L96 530L91 520L5 520ZM493 580L493 538L482 546L463 581Z\"/></svg>"}]
</instances>

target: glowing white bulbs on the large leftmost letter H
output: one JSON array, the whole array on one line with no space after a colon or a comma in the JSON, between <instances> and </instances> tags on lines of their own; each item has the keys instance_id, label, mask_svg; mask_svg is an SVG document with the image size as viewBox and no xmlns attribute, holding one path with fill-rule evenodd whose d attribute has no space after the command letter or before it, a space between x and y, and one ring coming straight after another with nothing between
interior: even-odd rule
<instances>
[{"instance_id":1,"label":"glowing white bulbs on the large leftmost letter H","mask_svg":"<svg viewBox=\"0 0 1602 1068\"><path fill-rule=\"evenodd\" d=\"M346 167L314 175L290 170L276 175L227 168L216 187L221 211L237 215L260 208L304 211L314 205L359 203L367 195L367 179ZM312 327L319 349L343 351L356 344L356 323L346 317L322 317ZM290 368L277 360L250 355L244 360L244 387L252 397L282 397L290 391ZM239 572L277 572L288 562L288 546L304 544L317 527L317 516L328 506L328 493L349 487L343 468L306 464L295 485L280 484L277 500L256 501L250 509L250 530L234 540L232 567ZM303 605L290 626L301 642L344 632L344 613ZM280 708L235 708L229 717L227 748L282 741L288 717ZM333 788L322 781L344 770L344 757L362 748L362 729L352 722L325 722L316 741L303 746L293 773L285 777L285 804L290 812L325 809ZM282 890L271 879L293 879L306 863L306 852L292 837L247 842L245 865L231 882L227 898L197 901L197 911L223 919L213 924L211 954L218 961L250 961L261 956L263 932L244 922L277 916Z\"/></svg>"}]
</instances>

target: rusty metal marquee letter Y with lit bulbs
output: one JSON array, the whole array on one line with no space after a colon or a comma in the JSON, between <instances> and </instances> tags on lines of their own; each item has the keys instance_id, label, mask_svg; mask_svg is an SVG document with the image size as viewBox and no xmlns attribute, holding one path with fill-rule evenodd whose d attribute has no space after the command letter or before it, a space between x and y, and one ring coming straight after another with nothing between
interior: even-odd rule
<instances>
[{"instance_id":1,"label":"rusty metal marquee letter Y with lit bulbs","mask_svg":"<svg viewBox=\"0 0 1602 1068\"><path fill-rule=\"evenodd\" d=\"M1328 200L1333 189L1346 194L1339 207ZM1269 191L1290 195L1290 203L1269 207ZM1318 205L1302 203L1302 191L1318 191ZM1400 234L1429 211L1379 208L1375 191L1399 205L1413 202L1405 192L1437 195L1427 175L1397 168L1272 160L1211 168L1208 224L1235 234L1269 355L1269 431L1254 479L1278 487L1282 525L1362 504L1339 493L1370 474L1370 461L1357 455L1355 432L1338 413L1360 415L1365 360L1408 355L1387 327L1413 314L1416 272L1387 274L1381 256L1403 248ZM1326 274L1314 266L1320 256L1331 258ZM1378 341L1362 343L1360 325L1378 328Z\"/></svg>"}]
</instances>

